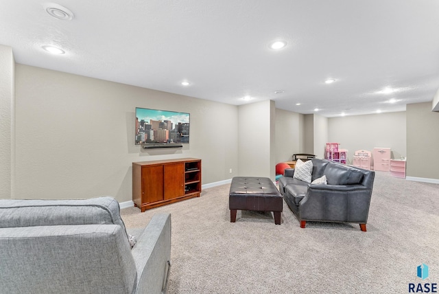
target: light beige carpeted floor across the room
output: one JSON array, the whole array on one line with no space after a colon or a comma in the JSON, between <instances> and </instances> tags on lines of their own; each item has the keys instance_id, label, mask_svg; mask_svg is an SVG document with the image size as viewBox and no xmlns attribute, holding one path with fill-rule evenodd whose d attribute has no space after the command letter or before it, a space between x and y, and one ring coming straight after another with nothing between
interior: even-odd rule
<instances>
[{"instance_id":1,"label":"light beige carpeted floor across the room","mask_svg":"<svg viewBox=\"0 0 439 294\"><path fill-rule=\"evenodd\" d=\"M439 185L377 172L367 232L340 223L301 229L285 203L281 225L240 211L230 223L229 188L144 213L121 210L132 232L171 213L168 293L408 293L409 283L439 284ZM416 276L422 263L425 280Z\"/></svg>"}]
</instances>

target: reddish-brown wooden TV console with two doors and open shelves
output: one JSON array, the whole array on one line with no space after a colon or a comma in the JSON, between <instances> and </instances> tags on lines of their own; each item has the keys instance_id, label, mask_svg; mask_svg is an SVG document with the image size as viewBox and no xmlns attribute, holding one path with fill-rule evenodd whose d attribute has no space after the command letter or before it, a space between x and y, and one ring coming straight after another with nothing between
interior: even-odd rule
<instances>
[{"instance_id":1,"label":"reddish-brown wooden TV console with two doors and open shelves","mask_svg":"<svg viewBox=\"0 0 439 294\"><path fill-rule=\"evenodd\" d=\"M200 197L201 159L182 158L132 163L132 201L141 212Z\"/></svg>"}]
</instances>

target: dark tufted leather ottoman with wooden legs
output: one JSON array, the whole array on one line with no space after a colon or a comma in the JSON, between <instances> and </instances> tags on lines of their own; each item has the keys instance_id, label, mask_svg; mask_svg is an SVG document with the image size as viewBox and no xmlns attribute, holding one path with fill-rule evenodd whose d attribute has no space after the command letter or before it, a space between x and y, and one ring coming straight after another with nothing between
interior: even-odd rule
<instances>
[{"instance_id":1,"label":"dark tufted leather ottoman with wooden legs","mask_svg":"<svg viewBox=\"0 0 439 294\"><path fill-rule=\"evenodd\" d=\"M228 194L230 222L235 223L237 210L273 212L274 223L281 225L283 199L271 179L234 177Z\"/></svg>"}]
</instances>

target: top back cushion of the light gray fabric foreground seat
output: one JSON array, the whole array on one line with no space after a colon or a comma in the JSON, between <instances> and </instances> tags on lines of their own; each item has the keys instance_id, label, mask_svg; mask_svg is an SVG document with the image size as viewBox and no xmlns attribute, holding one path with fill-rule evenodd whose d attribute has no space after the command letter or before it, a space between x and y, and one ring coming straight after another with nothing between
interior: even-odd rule
<instances>
[{"instance_id":1,"label":"top back cushion of the light gray fabric foreground seat","mask_svg":"<svg viewBox=\"0 0 439 294\"><path fill-rule=\"evenodd\" d=\"M126 231L119 203L111 197L75 200L0 199L0 219L0 227L114 224Z\"/></svg>"}]
</instances>

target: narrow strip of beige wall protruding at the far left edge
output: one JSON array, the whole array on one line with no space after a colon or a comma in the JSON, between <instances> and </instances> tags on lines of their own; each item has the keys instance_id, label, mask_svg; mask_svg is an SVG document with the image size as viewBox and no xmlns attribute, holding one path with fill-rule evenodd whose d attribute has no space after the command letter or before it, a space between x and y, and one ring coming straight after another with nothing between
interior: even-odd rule
<instances>
[{"instance_id":1,"label":"narrow strip of beige wall protruding at the far left edge","mask_svg":"<svg viewBox=\"0 0 439 294\"><path fill-rule=\"evenodd\" d=\"M0 45L0 198L10 198L14 181L14 56Z\"/></svg>"}]
</instances>

